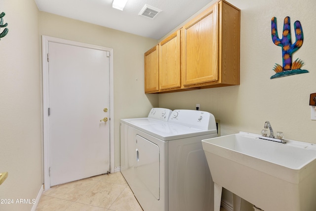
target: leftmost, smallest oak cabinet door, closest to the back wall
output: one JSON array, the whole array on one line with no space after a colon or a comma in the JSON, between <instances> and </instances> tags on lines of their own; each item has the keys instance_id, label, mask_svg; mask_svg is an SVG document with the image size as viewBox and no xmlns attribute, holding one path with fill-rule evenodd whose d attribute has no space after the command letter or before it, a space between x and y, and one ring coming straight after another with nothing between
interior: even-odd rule
<instances>
[{"instance_id":1,"label":"leftmost, smallest oak cabinet door, closest to the back wall","mask_svg":"<svg viewBox=\"0 0 316 211\"><path fill-rule=\"evenodd\" d=\"M145 53L145 93L158 92L158 45Z\"/></svg>"}]
</instances>

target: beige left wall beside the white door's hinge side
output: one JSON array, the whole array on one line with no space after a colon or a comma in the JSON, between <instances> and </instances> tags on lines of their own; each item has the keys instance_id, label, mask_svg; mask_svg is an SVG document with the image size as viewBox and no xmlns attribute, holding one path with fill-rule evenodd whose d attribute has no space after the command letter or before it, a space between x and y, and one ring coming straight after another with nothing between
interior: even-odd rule
<instances>
[{"instance_id":1,"label":"beige left wall beside the white door's hinge side","mask_svg":"<svg viewBox=\"0 0 316 211\"><path fill-rule=\"evenodd\" d=\"M34 0L0 0L9 33L0 40L1 211L30 211L42 184L39 11ZM1 28L1 32L3 28Z\"/></svg>"}]
</instances>

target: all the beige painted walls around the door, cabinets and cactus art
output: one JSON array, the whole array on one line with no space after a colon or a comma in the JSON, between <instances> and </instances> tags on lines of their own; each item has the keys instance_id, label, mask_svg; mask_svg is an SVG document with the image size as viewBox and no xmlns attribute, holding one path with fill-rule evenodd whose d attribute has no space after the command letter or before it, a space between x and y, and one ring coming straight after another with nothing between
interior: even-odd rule
<instances>
[{"instance_id":1,"label":"all the beige painted walls around the door, cabinets and cactus art","mask_svg":"<svg viewBox=\"0 0 316 211\"><path fill-rule=\"evenodd\" d=\"M157 41L39 12L34 0L0 0L9 33L0 41L0 172L9 177L0 199L34 199L42 184L41 38L47 35L114 49L115 167L119 167L119 119L142 117L151 107L201 109L221 120L222 135L259 133L269 120L289 139L316 143L310 120L310 93L316 92L316 2L306 0L229 0L241 9L240 85L144 94L144 52ZM303 5L301 5L303 4ZM300 20L304 44L293 55L308 74L270 80L281 64L281 49L271 40L271 18ZM293 32L293 31L292 31ZM295 39L293 39L293 42ZM159 100L159 101L158 101ZM0 210L29 211L32 205L1 205Z\"/></svg>"}]
</instances>

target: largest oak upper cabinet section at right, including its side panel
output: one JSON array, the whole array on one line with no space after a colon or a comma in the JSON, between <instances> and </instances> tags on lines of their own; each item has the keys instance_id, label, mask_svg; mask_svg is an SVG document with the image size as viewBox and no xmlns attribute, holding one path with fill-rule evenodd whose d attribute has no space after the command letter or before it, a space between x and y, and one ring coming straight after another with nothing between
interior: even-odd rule
<instances>
[{"instance_id":1,"label":"largest oak upper cabinet section at right, including its side panel","mask_svg":"<svg viewBox=\"0 0 316 211\"><path fill-rule=\"evenodd\" d=\"M240 10L225 0L210 6L181 30L185 88L239 84Z\"/></svg>"}]
</instances>

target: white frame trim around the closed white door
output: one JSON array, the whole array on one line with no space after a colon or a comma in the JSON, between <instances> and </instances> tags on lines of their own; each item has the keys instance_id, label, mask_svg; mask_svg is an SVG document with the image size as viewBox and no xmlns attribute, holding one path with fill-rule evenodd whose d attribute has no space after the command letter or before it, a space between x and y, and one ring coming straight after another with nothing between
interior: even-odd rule
<instances>
[{"instance_id":1,"label":"white frame trim around the closed white door","mask_svg":"<svg viewBox=\"0 0 316 211\"><path fill-rule=\"evenodd\" d=\"M49 179L49 166L50 166L50 143L49 143L49 75L48 75L48 42L57 42L62 44L70 44L79 47L87 47L98 50L110 51L110 172L114 173L114 78L113 78L113 48L102 47L82 42L69 41L49 36L42 36L42 80L43 80L43 176L44 176L44 189L50 188Z\"/></svg>"}]
</instances>

